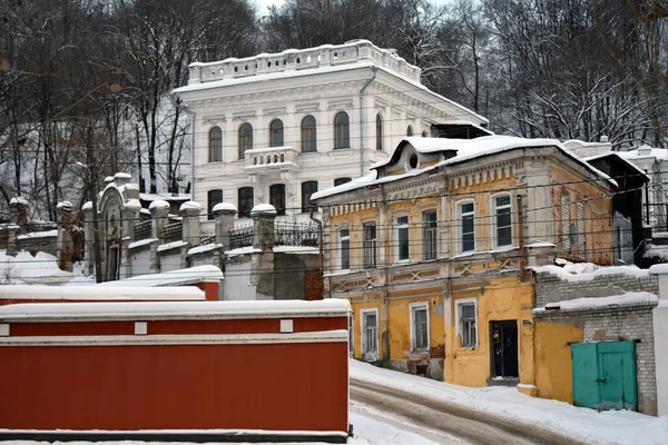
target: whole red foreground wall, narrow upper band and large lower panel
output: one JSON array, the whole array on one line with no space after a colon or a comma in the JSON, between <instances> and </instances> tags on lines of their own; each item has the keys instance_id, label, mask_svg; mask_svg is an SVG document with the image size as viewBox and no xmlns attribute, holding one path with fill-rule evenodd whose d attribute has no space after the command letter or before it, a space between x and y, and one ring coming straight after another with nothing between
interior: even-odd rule
<instances>
[{"instance_id":1,"label":"whole red foreground wall, narrow upper band and large lower panel","mask_svg":"<svg viewBox=\"0 0 668 445\"><path fill-rule=\"evenodd\" d=\"M347 432L346 317L287 318L9 322L0 428Z\"/></svg>"}]
</instances>

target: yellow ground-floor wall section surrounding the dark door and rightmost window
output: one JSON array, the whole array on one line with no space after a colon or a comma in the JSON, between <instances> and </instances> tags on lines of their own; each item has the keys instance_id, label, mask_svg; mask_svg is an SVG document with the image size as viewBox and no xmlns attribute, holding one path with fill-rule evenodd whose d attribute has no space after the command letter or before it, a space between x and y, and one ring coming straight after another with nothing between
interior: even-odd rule
<instances>
[{"instance_id":1,"label":"yellow ground-floor wall section surrounding the dark door and rightmost window","mask_svg":"<svg viewBox=\"0 0 668 445\"><path fill-rule=\"evenodd\" d=\"M462 285L462 287L465 285ZM456 301L477 297L478 346L462 348L456 335ZM445 382L465 386L487 386L491 375L490 322L517 320L520 383L533 384L532 285L519 277L492 278L479 289L452 289L451 325L445 327ZM531 324L524 325L522 322Z\"/></svg>"}]
</instances>

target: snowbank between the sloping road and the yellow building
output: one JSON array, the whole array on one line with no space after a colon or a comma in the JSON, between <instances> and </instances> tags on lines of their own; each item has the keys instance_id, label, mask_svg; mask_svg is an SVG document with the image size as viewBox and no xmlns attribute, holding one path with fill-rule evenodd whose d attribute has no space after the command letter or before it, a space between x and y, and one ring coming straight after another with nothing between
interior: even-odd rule
<instances>
[{"instance_id":1,"label":"snowbank between the sloping road and the yellow building","mask_svg":"<svg viewBox=\"0 0 668 445\"><path fill-rule=\"evenodd\" d=\"M563 402L530 397L515 388L469 388L377 368L357 360L351 360L350 368L351 378L357 380L489 413L497 418L525 425L527 428L540 425L590 444L668 444L667 416L652 417L628 411L598 413ZM355 431L363 435L364 426L355 426Z\"/></svg>"}]
</instances>

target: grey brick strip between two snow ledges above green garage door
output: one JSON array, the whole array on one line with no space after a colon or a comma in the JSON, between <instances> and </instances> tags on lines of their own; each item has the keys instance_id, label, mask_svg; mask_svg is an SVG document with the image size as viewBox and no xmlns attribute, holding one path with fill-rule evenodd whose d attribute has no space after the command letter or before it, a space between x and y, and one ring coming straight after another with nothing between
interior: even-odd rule
<instances>
[{"instance_id":1,"label":"grey brick strip between two snow ledges above green garage door","mask_svg":"<svg viewBox=\"0 0 668 445\"><path fill-rule=\"evenodd\" d=\"M569 281L548 271L534 275L536 307L548 303L586 297L609 297L629 291L659 294L659 278L656 275L637 277L628 274L598 275L590 280Z\"/></svg>"}]
</instances>

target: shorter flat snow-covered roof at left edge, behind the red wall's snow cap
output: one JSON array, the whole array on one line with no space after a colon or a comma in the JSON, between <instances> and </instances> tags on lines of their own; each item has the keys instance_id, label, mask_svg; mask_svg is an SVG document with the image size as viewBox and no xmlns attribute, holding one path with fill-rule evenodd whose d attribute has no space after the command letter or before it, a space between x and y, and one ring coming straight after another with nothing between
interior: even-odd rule
<instances>
[{"instance_id":1,"label":"shorter flat snow-covered roof at left edge, behind the red wall's snow cap","mask_svg":"<svg viewBox=\"0 0 668 445\"><path fill-rule=\"evenodd\" d=\"M120 281L110 281L120 283ZM178 288L156 288L134 281L122 286L0 286L0 299L17 300L205 300L204 291L194 286ZM22 305L21 305L22 306Z\"/></svg>"}]
</instances>

